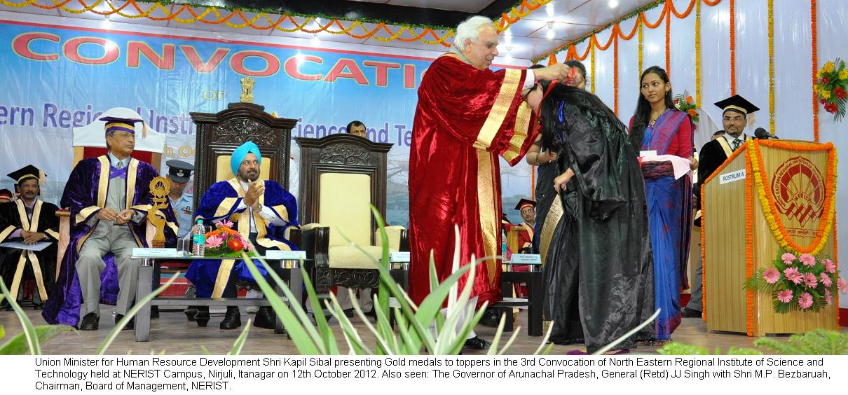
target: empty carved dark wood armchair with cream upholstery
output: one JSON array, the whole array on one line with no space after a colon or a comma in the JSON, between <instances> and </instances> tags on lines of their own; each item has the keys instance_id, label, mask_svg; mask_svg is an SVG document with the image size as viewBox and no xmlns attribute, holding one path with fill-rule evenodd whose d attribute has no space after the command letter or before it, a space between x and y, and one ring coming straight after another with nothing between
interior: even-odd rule
<instances>
[{"instance_id":1,"label":"empty carved dark wood armchair with cream upholstery","mask_svg":"<svg viewBox=\"0 0 848 395\"><path fill-rule=\"evenodd\" d=\"M302 248L315 291L333 286L377 288L382 256L371 205L386 213L386 155L392 144L350 134L297 137L300 146ZM388 226L389 249L409 251L403 226ZM362 253L360 248L365 251Z\"/></svg>"}]
</instances>

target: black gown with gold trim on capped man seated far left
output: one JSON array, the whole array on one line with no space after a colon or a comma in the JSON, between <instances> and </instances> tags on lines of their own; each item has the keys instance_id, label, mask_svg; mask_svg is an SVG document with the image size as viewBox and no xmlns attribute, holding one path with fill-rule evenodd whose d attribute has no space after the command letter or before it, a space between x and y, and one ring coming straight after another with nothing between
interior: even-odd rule
<instances>
[{"instance_id":1,"label":"black gown with gold trim on capped man seated far left","mask_svg":"<svg viewBox=\"0 0 848 395\"><path fill-rule=\"evenodd\" d=\"M44 233L47 236L44 242L53 242L42 251L31 253L17 248L0 248L0 276L3 276L3 282L10 292L17 292L12 290L12 285L18 274L19 287L23 281L34 280L36 287L33 294L40 292L40 287L43 287L42 291L47 293L42 295L42 302L47 300L47 295L53 289L53 282L56 279L56 246L59 242L59 219L56 218L56 210L58 209L53 203L36 200L30 217L21 200L0 204L0 242L23 242L22 237L11 237L12 233L18 229ZM34 264L38 265L41 281L36 280Z\"/></svg>"}]
</instances>

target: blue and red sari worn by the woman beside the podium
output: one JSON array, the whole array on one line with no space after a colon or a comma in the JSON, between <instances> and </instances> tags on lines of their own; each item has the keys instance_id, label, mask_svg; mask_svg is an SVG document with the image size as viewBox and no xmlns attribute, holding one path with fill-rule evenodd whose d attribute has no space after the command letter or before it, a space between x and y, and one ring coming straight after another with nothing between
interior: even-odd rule
<instances>
[{"instance_id":1,"label":"blue and red sari worn by the woman beside the podium","mask_svg":"<svg viewBox=\"0 0 848 395\"><path fill-rule=\"evenodd\" d=\"M631 120L633 125L633 120ZM657 155L692 156L692 123L682 111L667 110L654 126L645 128L642 151ZM654 300L661 309L656 339L668 340L680 325L680 292L686 285L692 228L692 179L675 180L668 162L643 164L648 202L650 242L654 250Z\"/></svg>"}]
</instances>

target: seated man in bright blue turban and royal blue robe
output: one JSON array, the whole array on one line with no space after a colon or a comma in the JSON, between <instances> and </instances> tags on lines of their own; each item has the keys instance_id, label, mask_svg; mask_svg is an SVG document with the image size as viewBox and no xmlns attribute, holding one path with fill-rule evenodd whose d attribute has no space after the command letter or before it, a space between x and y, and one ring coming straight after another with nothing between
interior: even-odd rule
<instances>
[{"instance_id":1,"label":"seated man in bright blue turban and royal blue robe","mask_svg":"<svg viewBox=\"0 0 848 395\"><path fill-rule=\"evenodd\" d=\"M298 205L291 193L274 181L259 181L259 164L262 153L254 142L245 142L232 153L230 166L234 178L218 181L209 187L200 199L194 217L205 225L231 221L232 229L250 240L256 252L276 248L290 251L297 247L286 240L284 231L298 226ZM257 262L259 271L265 270ZM236 281L253 281L247 265L234 259L196 260L188 268L186 277L197 287L198 298L236 298ZM209 321L209 308L199 307L195 319L201 325ZM273 310L265 306L256 312L254 325L274 328ZM242 325L238 306L227 306L220 329L236 329Z\"/></svg>"}]
</instances>

